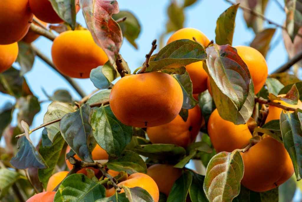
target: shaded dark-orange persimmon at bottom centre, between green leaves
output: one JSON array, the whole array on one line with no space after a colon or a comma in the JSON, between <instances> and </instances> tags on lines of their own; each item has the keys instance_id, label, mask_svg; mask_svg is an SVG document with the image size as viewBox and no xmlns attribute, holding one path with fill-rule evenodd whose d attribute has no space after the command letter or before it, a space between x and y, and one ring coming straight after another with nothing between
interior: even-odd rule
<instances>
[{"instance_id":1,"label":"shaded dark-orange persimmon at bottom centre, between green leaves","mask_svg":"<svg viewBox=\"0 0 302 202\"><path fill-rule=\"evenodd\" d=\"M154 164L147 170L147 175L156 182L160 192L167 197L170 194L174 182L182 175L182 169L168 164Z\"/></svg>"}]
</instances>

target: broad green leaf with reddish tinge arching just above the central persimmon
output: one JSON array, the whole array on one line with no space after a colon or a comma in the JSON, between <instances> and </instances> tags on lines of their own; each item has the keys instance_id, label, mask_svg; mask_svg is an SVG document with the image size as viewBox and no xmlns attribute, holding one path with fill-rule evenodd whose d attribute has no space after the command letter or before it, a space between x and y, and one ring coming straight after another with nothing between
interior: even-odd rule
<instances>
[{"instance_id":1,"label":"broad green leaf with reddish tinge arching just above the central persimmon","mask_svg":"<svg viewBox=\"0 0 302 202\"><path fill-rule=\"evenodd\" d=\"M176 40L162 48L153 60L150 59L145 72L169 71L206 58L207 54L199 43L189 39Z\"/></svg>"}]
</instances>

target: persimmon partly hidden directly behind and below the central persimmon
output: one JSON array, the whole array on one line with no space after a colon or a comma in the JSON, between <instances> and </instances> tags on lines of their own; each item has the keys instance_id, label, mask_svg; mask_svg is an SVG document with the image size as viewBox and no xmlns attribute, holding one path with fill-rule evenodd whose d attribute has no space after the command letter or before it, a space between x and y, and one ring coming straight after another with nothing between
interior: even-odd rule
<instances>
[{"instance_id":1,"label":"persimmon partly hidden directly behind and below the central persimmon","mask_svg":"<svg viewBox=\"0 0 302 202\"><path fill-rule=\"evenodd\" d=\"M201 111L198 105L188 110L185 122L180 115L170 123L148 127L147 134L153 144L176 144L187 147L194 142L201 127Z\"/></svg>"}]
</instances>

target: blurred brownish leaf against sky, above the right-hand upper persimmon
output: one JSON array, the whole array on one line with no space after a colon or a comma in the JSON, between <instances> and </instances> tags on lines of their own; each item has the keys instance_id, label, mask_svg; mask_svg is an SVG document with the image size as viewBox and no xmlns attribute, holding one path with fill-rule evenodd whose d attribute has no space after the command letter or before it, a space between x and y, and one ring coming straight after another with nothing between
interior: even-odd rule
<instances>
[{"instance_id":1,"label":"blurred brownish leaf against sky, above the right-hand upper persimmon","mask_svg":"<svg viewBox=\"0 0 302 202\"><path fill-rule=\"evenodd\" d=\"M255 38L251 42L250 46L258 50L263 57L266 57L266 54L270 48L269 44L273 35L275 34L275 28L267 28L256 34Z\"/></svg>"}]
</instances>

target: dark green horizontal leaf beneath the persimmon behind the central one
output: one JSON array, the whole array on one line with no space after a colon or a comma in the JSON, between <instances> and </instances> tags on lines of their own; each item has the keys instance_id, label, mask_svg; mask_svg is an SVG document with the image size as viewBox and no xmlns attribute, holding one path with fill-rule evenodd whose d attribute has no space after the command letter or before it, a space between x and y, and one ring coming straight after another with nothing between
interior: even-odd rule
<instances>
[{"instance_id":1,"label":"dark green horizontal leaf beneath the persimmon behind the central one","mask_svg":"<svg viewBox=\"0 0 302 202\"><path fill-rule=\"evenodd\" d=\"M174 144L147 144L134 147L137 154L158 160L178 159L186 154L183 147Z\"/></svg>"}]
</instances>

